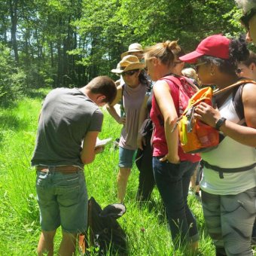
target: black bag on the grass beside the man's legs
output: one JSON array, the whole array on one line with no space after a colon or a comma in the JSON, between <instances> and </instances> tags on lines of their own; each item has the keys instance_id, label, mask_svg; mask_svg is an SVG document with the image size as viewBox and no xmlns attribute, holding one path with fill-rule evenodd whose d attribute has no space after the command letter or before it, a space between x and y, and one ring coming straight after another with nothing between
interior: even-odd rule
<instances>
[{"instance_id":1,"label":"black bag on the grass beside the man's legs","mask_svg":"<svg viewBox=\"0 0 256 256\"><path fill-rule=\"evenodd\" d=\"M121 203L111 204L103 210L91 197L89 202L88 230L90 245L99 248L99 255L127 255L126 233L117 222L126 208Z\"/></svg>"}]
</instances>

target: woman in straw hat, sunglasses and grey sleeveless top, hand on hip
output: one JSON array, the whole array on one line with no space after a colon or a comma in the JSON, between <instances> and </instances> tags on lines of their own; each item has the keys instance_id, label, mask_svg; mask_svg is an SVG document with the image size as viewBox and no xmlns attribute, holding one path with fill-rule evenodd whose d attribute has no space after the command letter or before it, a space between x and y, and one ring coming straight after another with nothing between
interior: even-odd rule
<instances>
[{"instance_id":1,"label":"woman in straw hat, sunglasses and grey sleeveless top, hand on hip","mask_svg":"<svg viewBox=\"0 0 256 256\"><path fill-rule=\"evenodd\" d=\"M117 198L123 203L126 194L127 181L133 167L133 156L137 149L137 134L139 125L139 110L141 108L148 81L141 74L145 68L144 63L133 55L126 55L120 61L117 69L111 72L120 74L125 84L117 87L117 96L111 105L107 106L108 112L117 123L123 124L119 142L119 172L117 175ZM120 117L114 108L122 102L124 115Z\"/></svg>"}]
</instances>

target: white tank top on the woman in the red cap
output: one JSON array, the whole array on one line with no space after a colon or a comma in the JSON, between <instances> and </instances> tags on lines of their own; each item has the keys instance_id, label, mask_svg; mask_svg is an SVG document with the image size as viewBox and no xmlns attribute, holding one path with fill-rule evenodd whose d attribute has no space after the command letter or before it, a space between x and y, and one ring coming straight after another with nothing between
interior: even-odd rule
<instances>
[{"instance_id":1,"label":"white tank top on the woman in the red cap","mask_svg":"<svg viewBox=\"0 0 256 256\"><path fill-rule=\"evenodd\" d=\"M225 117L233 123L239 123L240 120L233 105L232 95L221 105L219 111L221 112L221 117ZM256 162L256 149L242 145L225 136L218 148L203 153L201 157L212 166L238 168L250 166ZM256 187L256 167L244 172L224 172L224 178L220 178L218 172L204 167L200 187L210 194L242 193L251 187Z\"/></svg>"}]
</instances>

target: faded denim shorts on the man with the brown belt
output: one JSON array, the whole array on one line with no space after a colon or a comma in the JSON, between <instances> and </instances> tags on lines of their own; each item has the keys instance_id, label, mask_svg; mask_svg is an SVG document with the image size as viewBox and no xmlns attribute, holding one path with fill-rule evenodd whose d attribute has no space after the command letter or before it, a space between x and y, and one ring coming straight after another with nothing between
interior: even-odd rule
<instances>
[{"instance_id":1,"label":"faded denim shorts on the man with the brown belt","mask_svg":"<svg viewBox=\"0 0 256 256\"><path fill-rule=\"evenodd\" d=\"M68 233L87 230L87 187L84 171L72 174L37 172L36 192L44 231L61 226Z\"/></svg>"}]
</instances>

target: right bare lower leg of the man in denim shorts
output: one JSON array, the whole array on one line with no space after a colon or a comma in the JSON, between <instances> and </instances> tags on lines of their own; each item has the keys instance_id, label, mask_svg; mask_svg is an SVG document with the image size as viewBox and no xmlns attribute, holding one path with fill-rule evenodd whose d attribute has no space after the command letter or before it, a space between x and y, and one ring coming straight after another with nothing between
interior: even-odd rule
<instances>
[{"instance_id":1,"label":"right bare lower leg of the man in denim shorts","mask_svg":"<svg viewBox=\"0 0 256 256\"><path fill-rule=\"evenodd\" d=\"M62 231L62 240L59 245L59 256L75 255L75 246L77 242L76 233L67 233Z\"/></svg>"}]
</instances>

